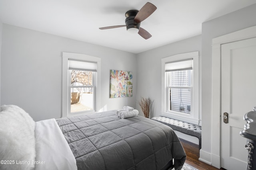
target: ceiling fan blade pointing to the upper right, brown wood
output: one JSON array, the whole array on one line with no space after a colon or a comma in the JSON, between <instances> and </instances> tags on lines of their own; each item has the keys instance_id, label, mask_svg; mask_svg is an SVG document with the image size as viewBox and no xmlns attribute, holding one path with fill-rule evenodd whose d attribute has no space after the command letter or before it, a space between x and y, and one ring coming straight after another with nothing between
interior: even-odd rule
<instances>
[{"instance_id":1,"label":"ceiling fan blade pointing to the upper right, brown wood","mask_svg":"<svg viewBox=\"0 0 256 170\"><path fill-rule=\"evenodd\" d=\"M150 2L147 2L138 12L138 14L135 16L134 21L137 23L140 23L141 21L148 18L154 11L156 10L156 6L151 4Z\"/></svg>"}]
</instances>

